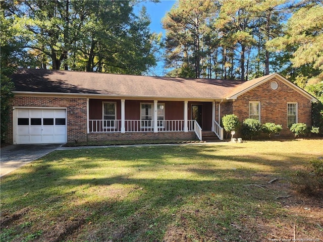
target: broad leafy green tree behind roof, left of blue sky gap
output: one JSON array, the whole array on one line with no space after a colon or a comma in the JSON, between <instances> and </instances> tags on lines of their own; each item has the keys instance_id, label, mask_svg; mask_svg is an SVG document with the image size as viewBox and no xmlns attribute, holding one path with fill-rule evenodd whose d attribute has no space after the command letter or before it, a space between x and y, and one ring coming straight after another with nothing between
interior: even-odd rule
<instances>
[{"instance_id":1,"label":"broad leafy green tree behind roof, left of blue sky gap","mask_svg":"<svg viewBox=\"0 0 323 242\"><path fill-rule=\"evenodd\" d=\"M155 65L150 20L136 1L17 2L40 67L141 74ZM21 11L22 12L22 11ZM19 16L19 15L18 15Z\"/></svg>"}]
</instances>

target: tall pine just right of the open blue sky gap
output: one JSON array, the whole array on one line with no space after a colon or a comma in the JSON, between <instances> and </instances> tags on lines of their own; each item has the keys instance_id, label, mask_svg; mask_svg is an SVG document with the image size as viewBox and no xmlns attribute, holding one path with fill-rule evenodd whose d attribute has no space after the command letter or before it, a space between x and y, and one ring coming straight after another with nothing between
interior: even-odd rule
<instances>
[{"instance_id":1,"label":"tall pine just right of the open blue sky gap","mask_svg":"<svg viewBox=\"0 0 323 242\"><path fill-rule=\"evenodd\" d=\"M177 75L201 76L205 38L210 33L212 12L214 4L211 0L187 0L177 2L164 17L166 58L173 60L176 68L180 69L176 71Z\"/></svg>"}]
</instances>

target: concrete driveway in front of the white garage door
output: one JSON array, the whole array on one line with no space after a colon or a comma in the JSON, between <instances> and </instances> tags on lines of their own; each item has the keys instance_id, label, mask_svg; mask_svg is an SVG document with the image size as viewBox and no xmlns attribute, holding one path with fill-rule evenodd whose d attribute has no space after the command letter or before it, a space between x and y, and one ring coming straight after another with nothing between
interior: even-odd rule
<instances>
[{"instance_id":1,"label":"concrete driveway in front of the white garage door","mask_svg":"<svg viewBox=\"0 0 323 242\"><path fill-rule=\"evenodd\" d=\"M0 177L54 150L57 150L61 146L62 144L37 144L9 145L1 148Z\"/></svg>"}]
</instances>

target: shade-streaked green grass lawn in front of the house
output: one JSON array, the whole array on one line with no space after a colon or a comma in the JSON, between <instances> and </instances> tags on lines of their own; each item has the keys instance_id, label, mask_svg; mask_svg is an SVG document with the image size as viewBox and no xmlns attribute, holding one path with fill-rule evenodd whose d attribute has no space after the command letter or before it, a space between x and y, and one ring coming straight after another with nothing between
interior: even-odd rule
<instances>
[{"instance_id":1,"label":"shade-streaked green grass lawn in front of the house","mask_svg":"<svg viewBox=\"0 0 323 242\"><path fill-rule=\"evenodd\" d=\"M293 195L292 175L322 147L292 140L55 151L1 178L1 241L263 241L292 236L286 226L295 221L298 236L319 238L322 215L276 198ZM249 186L274 178L264 189Z\"/></svg>"}]
</instances>

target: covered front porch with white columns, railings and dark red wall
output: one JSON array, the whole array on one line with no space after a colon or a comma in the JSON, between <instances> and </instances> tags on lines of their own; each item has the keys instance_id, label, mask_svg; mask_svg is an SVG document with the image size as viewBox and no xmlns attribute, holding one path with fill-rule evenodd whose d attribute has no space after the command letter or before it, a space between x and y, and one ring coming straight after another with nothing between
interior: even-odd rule
<instances>
[{"instance_id":1,"label":"covered front porch with white columns, railings and dark red wall","mask_svg":"<svg viewBox=\"0 0 323 242\"><path fill-rule=\"evenodd\" d=\"M96 137L133 140L195 135L202 140L202 127L223 140L223 128L214 118L214 101L88 99L87 107L87 133L94 140Z\"/></svg>"}]
</instances>

